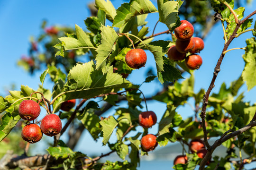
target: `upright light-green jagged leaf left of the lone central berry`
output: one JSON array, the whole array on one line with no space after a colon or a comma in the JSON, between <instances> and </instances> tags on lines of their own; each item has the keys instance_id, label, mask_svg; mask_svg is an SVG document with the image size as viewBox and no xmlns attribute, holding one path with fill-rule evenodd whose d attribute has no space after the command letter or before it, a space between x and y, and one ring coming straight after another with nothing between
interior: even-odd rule
<instances>
[{"instance_id":1,"label":"upright light-green jagged leaf left of the lone central berry","mask_svg":"<svg viewBox=\"0 0 256 170\"><path fill-rule=\"evenodd\" d=\"M96 69L101 69L103 73L108 70L107 65L109 65L108 58L110 53L113 51L114 43L118 38L118 34L110 26L101 26L101 45L97 48L96 56Z\"/></svg>"}]
</instances>

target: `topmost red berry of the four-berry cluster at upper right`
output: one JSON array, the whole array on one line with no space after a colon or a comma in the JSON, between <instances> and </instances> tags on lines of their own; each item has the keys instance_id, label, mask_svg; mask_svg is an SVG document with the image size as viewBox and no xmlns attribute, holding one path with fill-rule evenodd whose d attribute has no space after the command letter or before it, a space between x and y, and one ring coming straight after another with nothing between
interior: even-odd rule
<instances>
[{"instance_id":1,"label":"topmost red berry of the four-berry cluster at upper right","mask_svg":"<svg viewBox=\"0 0 256 170\"><path fill-rule=\"evenodd\" d=\"M177 39L187 40L194 34L194 27L187 20L182 20L181 25L174 29Z\"/></svg>"}]
</instances>

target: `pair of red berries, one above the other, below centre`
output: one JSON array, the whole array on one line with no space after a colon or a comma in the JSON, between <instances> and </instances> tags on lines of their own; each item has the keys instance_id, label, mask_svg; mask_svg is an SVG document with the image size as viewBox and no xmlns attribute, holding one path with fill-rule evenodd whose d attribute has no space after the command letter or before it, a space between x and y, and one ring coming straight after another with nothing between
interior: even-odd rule
<instances>
[{"instance_id":1,"label":"pair of red berries, one above the other, below centre","mask_svg":"<svg viewBox=\"0 0 256 170\"><path fill-rule=\"evenodd\" d=\"M144 128L149 128L155 125L156 115L154 111L144 111L139 114L139 125ZM153 134L147 134L140 140L141 148L148 152L153 151L157 146L156 136Z\"/></svg>"}]
</instances>

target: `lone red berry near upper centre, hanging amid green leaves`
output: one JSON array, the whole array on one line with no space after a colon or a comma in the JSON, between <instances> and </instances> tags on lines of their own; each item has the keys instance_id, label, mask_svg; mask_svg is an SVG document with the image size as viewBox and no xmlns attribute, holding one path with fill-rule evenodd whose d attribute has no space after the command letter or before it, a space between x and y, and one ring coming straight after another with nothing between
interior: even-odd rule
<instances>
[{"instance_id":1,"label":"lone red berry near upper centre, hanging amid green leaves","mask_svg":"<svg viewBox=\"0 0 256 170\"><path fill-rule=\"evenodd\" d=\"M142 49L132 49L125 55L125 62L130 68L139 69L146 64L146 52Z\"/></svg>"}]
</instances>

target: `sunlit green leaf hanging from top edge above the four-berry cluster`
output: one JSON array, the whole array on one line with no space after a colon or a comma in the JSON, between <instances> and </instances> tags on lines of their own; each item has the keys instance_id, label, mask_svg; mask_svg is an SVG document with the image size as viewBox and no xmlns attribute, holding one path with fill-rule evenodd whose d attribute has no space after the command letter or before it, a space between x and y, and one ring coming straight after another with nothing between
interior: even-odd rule
<instances>
[{"instance_id":1,"label":"sunlit green leaf hanging from top edge above the four-berry cluster","mask_svg":"<svg viewBox=\"0 0 256 170\"><path fill-rule=\"evenodd\" d=\"M164 0L157 0L159 21L164 23L170 31L174 31L174 28L178 26L178 12L182 3L183 1L181 0L170 0L165 2Z\"/></svg>"}]
</instances>

